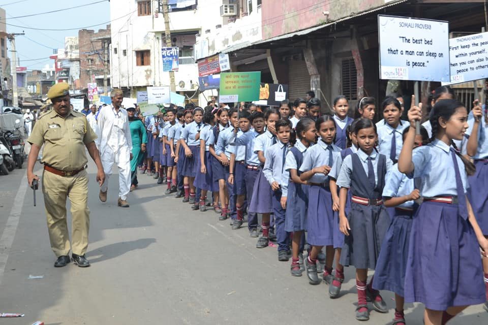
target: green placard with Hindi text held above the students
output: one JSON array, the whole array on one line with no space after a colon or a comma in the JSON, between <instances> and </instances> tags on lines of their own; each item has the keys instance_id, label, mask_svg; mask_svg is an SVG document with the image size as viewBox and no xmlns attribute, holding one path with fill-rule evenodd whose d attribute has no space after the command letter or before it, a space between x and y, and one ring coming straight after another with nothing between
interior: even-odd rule
<instances>
[{"instance_id":1,"label":"green placard with Hindi text held above the students","mask_svg":"<svg viewBox=\"0 0 488 325\"><path fill-rule=\"evenodd\" d=\"M261 72L230 72L220 74L220 103L259 100Z\"/></svg>"}]
</instances>

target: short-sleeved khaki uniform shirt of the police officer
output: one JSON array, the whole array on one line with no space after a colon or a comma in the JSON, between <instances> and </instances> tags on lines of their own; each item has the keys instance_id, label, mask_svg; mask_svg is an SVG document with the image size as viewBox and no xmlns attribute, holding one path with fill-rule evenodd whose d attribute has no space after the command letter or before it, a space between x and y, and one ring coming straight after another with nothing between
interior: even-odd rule
<instances>
[{"instance_id":1,"label":"short-sleeved khaki uniform shirt of the police officer","mask_svg":"<svg viewBox=\"0 0 488 325\"><path fill-rule=\"evenodd\" d=\"M95 139L84 114L70 111L63 118L52 109L37 120L27 141L39 147L44 144L42 164L68 172L85 167L85 145Z\"/></svg>"}]
</instances>

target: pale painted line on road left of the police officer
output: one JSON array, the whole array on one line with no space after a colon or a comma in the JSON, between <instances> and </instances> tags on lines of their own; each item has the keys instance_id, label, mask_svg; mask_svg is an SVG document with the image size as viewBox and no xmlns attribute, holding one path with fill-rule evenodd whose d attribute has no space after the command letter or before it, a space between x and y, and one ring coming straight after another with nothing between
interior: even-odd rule
<instances>
[{"instance_id":1,"label":"pale painted line on road left of the police officer","mask_svg":"<svg viewBox=\"0 0 488 325\"><path fill-rule=\"evenodd\" d=\"M17 226L19 225L20 213L22 212L26 190L27 176L24 176L20 181L20 186L14 199L14 204L10 210L10 215L5 225L4 232L2 233L2 237L0 237L0 284L2 284L5 266L7 265L7 259L9 258L10 248L12 247L15 233L17 232Z\"/></svg>"}]
</instances>

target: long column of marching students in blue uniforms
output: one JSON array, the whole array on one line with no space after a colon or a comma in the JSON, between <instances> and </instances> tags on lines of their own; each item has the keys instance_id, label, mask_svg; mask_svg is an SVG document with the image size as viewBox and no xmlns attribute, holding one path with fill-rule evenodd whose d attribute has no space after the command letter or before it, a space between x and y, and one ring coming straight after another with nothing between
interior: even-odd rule
<instances>
[{"instance_id":1,"label":"long column of marching students in blue uniforms","mask_svg":"<svg viewBox=\"0 0 488 325\"><path fill-rule=\"evenodd\" d=\"M247 222L257 248L276 241L291 275L325 281L330 298L339 297L344 266L354 267L358 320L369 319L368 302L387 312L379 290L395 293L393 324L406 323L404 302L425 305L425 324L445 324L469 305L488 311L486 107L475 102L468 114L440 87L426 118L412 105L402 120L403 102L365 97L355 118L345 96L333 116L320 114L316 98L265 111L167 108L144 119L141 170L193 210L230 217L233 230Z\"/></svg>"}]
</instances>

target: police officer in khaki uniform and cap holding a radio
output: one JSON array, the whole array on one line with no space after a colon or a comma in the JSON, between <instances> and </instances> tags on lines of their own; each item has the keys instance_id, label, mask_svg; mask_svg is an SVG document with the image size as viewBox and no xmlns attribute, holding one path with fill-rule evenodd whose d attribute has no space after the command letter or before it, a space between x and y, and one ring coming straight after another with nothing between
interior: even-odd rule
<instances>
[{"instance_id":1,"label":"police officer in khaki uniform and cap holding a radio","mask_svg":"<svg viewBox=\"0 0 488 325\"><path fill-rule=\"evenodd\" d=\"M40 117L34 126L27 163L27 180L39 180L34 174L34 165L39 149L44 144L41 163L44 164L42 192L47 215L47 229L51 248L56 254L55 267L70 263L70 250L75 264L89 266L85 258L88 247L89 214L88 176L85 171L88 162L85 148L97 164L97 181L105 180L100 154L95 145L97 136L88 125L82 113L70 109L70 93L67 83L57 83L49 89L48 98L52 110ZM71 202L72 238L66 220L66 198Z\"/></svg>"}]
</instances>

